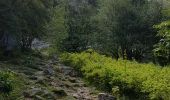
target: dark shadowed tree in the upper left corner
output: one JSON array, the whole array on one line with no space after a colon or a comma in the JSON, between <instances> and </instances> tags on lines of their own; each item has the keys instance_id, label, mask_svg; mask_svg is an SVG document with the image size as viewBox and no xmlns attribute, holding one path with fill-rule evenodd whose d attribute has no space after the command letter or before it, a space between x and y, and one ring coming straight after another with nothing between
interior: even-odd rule
<instances>
[{"instance_id":1,"label":"dark shadowed tree in the upper left corner","mask_svg":"<svg viewBox=\"0 0 170 100\"><path fill-rule=\"evenodd\" d=\"M34 38L43 35L51 0L1 0L1 36L8 34L22 50L30 49Z\"/></svg>"}]
</instances>

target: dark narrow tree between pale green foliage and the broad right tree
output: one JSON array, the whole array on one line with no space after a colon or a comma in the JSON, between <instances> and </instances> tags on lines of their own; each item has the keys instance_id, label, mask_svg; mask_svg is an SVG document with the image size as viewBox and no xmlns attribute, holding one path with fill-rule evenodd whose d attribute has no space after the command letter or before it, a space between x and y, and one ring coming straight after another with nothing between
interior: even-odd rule
<instances>
[{"instance_id":1,"label":"dark narrow tree between pale green foliage and the broad right tree","mask_svg":"<svg viewBox=\"0 0 170 100\"><path fill-rule=\"evenodd\" d=\"M79 52L88 48L93 14L91 8L87 0L68 1L65 22L68 37L63 41L65 51Z\"/></svg>"}]
</instances>

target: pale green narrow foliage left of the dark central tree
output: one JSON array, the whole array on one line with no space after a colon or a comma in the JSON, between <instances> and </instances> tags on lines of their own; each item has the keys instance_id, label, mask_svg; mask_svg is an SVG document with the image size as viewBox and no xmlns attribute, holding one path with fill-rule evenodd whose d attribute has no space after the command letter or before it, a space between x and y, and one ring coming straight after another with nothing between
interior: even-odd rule
<instances>
[{"instance_id":1,"label":"pale green narrow foliage left of the dark central tree","mask_svg":"<svg viewBox=\"0 0 170 100\"><path fill-rule=\"evenodd\" d=\"M50 53L59 53L62 41L68 35L65 26L65 5L65 0L58 0L57 6L53 7L50 11L50 22L46 25L48 34L44 36L44 38L51 43Z\"/></svg>"}]
</instances>

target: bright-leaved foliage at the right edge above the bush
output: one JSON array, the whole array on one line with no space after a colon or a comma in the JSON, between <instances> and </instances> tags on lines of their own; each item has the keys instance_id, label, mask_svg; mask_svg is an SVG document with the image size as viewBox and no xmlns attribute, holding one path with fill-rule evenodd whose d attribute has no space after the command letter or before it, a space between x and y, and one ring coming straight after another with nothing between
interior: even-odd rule
<instances>
[{"instance_id":1,"label":"bright-leaved foliage at the right edge above the bush","mask_svg":"<svg viewBox=\"0 0 170 100\"><path fill-rule=\"evenodd\" d=\"M170 63L170 21L154 26L158 29L159 43L155 45L154 54L158 62L164 66Z\"/></svg>"}]
</instances>

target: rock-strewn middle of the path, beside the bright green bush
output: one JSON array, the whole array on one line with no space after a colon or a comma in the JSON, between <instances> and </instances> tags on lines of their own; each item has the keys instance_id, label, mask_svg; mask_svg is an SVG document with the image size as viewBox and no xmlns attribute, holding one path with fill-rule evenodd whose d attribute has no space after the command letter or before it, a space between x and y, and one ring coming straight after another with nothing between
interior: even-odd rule
<instances>
[{"instance_id":1,"label":"rock-strewn middle of the path, beside the bright green bush","mask_svg":"<svg viewBox=\"0 0 170 100\"><path fill-rule=\"evenodd\" d=\"M49 60L39 71L28 76L24 100L98 100L98 91L89 87L68 66ZM45 67L44 67L45 66Z\"/></svg>"}]
</instances>

